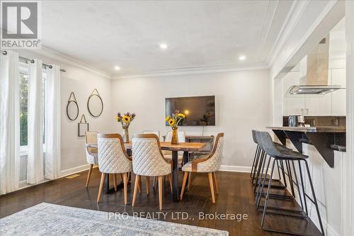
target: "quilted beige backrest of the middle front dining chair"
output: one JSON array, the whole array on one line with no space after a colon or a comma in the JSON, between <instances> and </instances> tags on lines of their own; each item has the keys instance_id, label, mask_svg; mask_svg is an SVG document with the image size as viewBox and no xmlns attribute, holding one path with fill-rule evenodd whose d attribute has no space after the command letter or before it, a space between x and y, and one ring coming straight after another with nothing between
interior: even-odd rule
<instances>
[{"instance_id":1,"label":"quilted beige backrest of the middle front dining chair","mask_svg":"<svg viewBox=\"0 0 354 236\"><path fill-rule=\"evenodd\" d=\"M142 176L171 174L171 164L161 152L159 137L154 134L134 135L132 138L133 172Z\"/></svg>"}]
</instances>

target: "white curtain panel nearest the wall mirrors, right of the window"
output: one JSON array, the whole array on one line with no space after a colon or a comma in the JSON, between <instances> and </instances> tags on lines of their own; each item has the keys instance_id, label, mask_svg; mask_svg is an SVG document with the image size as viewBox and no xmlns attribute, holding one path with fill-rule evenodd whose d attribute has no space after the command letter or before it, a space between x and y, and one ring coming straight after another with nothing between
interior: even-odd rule
<instances>
[{"instance_id":1,"label":"white curtain panel nearest the wall mirrors, right of the window","mask_svg":"<svg viewBox=\"0 0 354 236\"><path fill-rule=\"evenodd\" d=\"M45 178L60 174L60 68L47 68L45 79Z\"/></svg>"}]
</instances>

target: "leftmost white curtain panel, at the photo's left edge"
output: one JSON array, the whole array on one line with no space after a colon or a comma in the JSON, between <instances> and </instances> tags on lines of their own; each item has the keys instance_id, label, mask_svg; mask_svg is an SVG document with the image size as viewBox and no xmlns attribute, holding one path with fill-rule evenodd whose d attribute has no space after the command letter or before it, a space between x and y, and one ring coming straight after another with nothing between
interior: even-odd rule
<instances>
[{"instance_id":1,"label":"leftmost white curtain panel, at the photo's left edge","mask_svg":"<svg viewBox=\"0 0 354 236\"><path fill-rule=\"evenodd\" d=\"M0 194L18 189L20 179L20 94L18 53L0 55Z\"/></svg>"}]
</instances>

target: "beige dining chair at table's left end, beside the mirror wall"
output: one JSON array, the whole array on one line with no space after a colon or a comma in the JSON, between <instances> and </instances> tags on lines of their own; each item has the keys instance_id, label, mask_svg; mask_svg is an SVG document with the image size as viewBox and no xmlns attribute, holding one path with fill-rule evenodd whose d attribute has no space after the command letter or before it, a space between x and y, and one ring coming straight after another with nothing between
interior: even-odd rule
<instances>
[{"instance_id":1,"label":"beige dining chair at table's left end, beside the mirror wall","mask_svg":"<svg viewBox=\"0 0 354 236\"><path fill-rule=\"evenodd\" d=\"M86 179L86 188L89 186L89 181L91 178L91 173L94 164L97 162L97 134L96 131L87 131L85 133L85 144L86 144L86 161L90 164L89 174ZM96 147L90 147L90 145L95 145Z\"/></svg>"}]
</instances>

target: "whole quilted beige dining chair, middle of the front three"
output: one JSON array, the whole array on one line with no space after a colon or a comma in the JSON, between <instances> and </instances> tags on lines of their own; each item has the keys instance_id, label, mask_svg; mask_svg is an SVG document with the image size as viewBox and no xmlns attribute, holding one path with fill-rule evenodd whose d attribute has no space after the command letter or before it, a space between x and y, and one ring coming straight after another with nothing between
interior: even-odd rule
<instances>
[{"instance_id":1,"label":"whole quilted beige dining chair, middle of the front three","mask_svg":"<svg viewBox=\"0 0 354 236\"><path fill-rule=\"evenodd\" d=\"M159 137L154 134L134 135L132 138L132 169L136 175L132 206L135 206L137 189L141 176L147 177L147 191L149 178L159 177L159 209L162 210L162 177L169 176L172 190L172 165L164 159L161 151ZM148 192L149 193L149 192Z\"/></svg>"}]
</instances>

